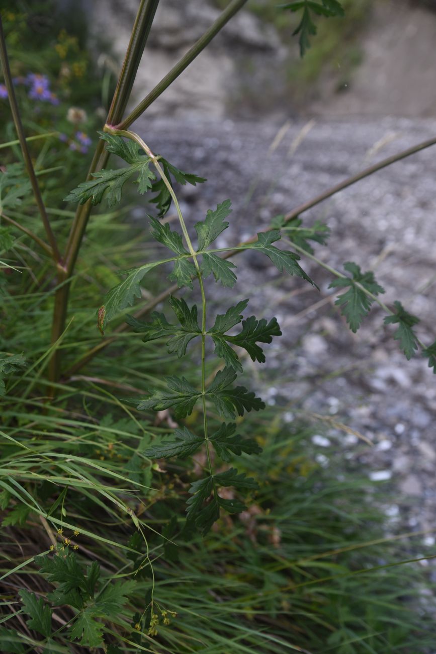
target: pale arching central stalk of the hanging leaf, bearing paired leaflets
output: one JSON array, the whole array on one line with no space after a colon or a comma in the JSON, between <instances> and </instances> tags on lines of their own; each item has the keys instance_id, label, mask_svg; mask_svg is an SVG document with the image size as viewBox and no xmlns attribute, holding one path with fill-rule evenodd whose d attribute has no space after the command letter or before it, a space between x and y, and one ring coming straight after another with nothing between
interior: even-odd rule
<instances>
[{"instance_id":1,"label":"pale arching central stalk of the hanging leaf, bearing paired leaflets","mask_svg":"<svg viewBox=\"0 0 436 654\"><path fill-rule=\"evenodd\" d=\"M178 199L176 197L176 194L174 192L173 186L171 186L171 182L165 175L165 172L163 171L163 168L159 164L158 158L153 154L152 150L148 147L146 143L144 143L143 139L135 133L134 131L127 131L126 129L113 129L110 128L110 126L106 125L105 126L105 131L109 131L111 134L116 134L117 136L124 136L127 139L131 139L132 141L135 141L141 148L143 148L144 152L148 154L150 159L152 160L152 163L156 170L159 173L159 176L161 177L161 180L167 187L167 190L169 194L171 195L171 198L173 199L175 208L176 208L176 213L178 216L178 222L180 223L180 228L182 228L182 232L186 241L186 245L188 245L188 250L190 251L190 255L193 258L193 264L195 266L195 269L197 271L197 279L198 283L200 286L200 292L201 292L201 401L203 404L203 427L204 427L204 436L205 436L205 444L206 444L206 453L207 453L207 462L209 465L209 472L210 476L213 477L213 469L212 469L212 460L210 459L210 451L209 451L209 438L208 438L208 432L207 432L207 413L206 413L206 373L205 373L205 368L206 368L206 347L205 347L205 340L206 340L206 295L205 295L205 286L203 284L203 277L201 276L201 269L197 260L197 252L195 251L192 241L190 239L190 235L188 233L188 230L186 228L186 223L184 221L182 211L180 209L180 205L178 203ZM216 490L214 487L214 493L216 494Z\"/></svg>"}]
</instances>

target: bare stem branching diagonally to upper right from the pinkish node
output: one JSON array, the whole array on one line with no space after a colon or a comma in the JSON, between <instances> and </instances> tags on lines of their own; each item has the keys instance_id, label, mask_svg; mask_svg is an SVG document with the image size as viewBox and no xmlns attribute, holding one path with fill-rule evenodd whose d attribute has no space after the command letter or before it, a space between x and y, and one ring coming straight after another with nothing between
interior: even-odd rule
<instances>
[{"instance_id":1,"label":"bare stem branching diagonally to upper right from the pinkish node","mask_svg":"<svg viewBox=\"0 0 436 654\"><path fill-rule=\"evenodd\" d=\"M198 39L196 43L193 44L192 48L186 52L186 54L176 63L176 65L165 75L165 77L156 84L154 89L144 97L143 101L133 109L133 111L120 122L119 124L113 125L118 129L126 129L129 127L144 111L150 107L150 105L163 94L163 92L174 82L174 80L183 73L183 71L192 63L192 61L205 49L205 47L212 41L212 39L218 34L218 32L226 25L226 23L232 18L242 7L245 5L247 0L233 0L224 11L218 16L216 21L209 27L207 31ZM109 124L113 124L108 121Z\"/></svg>"}]
</instances>

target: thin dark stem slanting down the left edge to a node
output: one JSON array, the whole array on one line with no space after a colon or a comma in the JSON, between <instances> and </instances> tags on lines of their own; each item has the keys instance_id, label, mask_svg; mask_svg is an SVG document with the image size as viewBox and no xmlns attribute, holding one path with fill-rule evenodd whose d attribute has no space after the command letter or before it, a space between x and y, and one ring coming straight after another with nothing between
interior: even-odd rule
<instances>
[{"instance_id":1,"label":"thin dark stem slanting down the left edge to a node","mask_svg":"<svg viewBox=\"0 0 436 654\"><path fill-rule=\"evenodd\" d=\"M42 196L41 196L41 190L39 189L37 176L35 175L35 170L33 169L32 159L24 135L24 128L20 116L20 109L18 108L18 102L16 100L14 84L12 83L12 75L10 73L8 52L6 48L5 33L3 32L3 23L1 21L1 16L0 16L0 61L1 61L1 66L3 68L3 75L5 77L6 88L8 90L10 111L12 112L12 118L14 119L15 129L18 134L18 141L20 142L20 148L23 154L25 167L27 169L27 175L29 175L29 179L33 189L33 195L35 196L35 201L37 203L39 213L41 214L42 223L44 224L44 229L46 231L46 235L52 249L52 256L54 262L58 266L58 269L61 269L62 258L58 249L58 243L52 231L52 227L50 226L50 220L48 220L48 216L46 214L44 201L42 200Z\"/></svg>"}]
</instances>

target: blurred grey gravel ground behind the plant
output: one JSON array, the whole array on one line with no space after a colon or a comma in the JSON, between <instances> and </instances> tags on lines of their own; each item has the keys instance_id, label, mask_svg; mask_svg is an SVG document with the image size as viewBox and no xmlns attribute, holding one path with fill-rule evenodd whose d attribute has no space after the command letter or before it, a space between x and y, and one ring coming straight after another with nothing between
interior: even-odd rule
<instances>
[{"instance_id":1,"label":"blurred grey gravel ground behind the plant","mask_svg":"<svg viewBox=\"0 0 436 654\"><path fill-rule=\"evenodd\" d=\"M431 120L321 120L309 131L303 122L293 122L271 148L280 127L192 118L142 119L135 129L175 165L208 178L203 187L182 188L188 224L231 198L231 226L220 245L237 243L265 228L274 215L436 133ZM331 228L330 247L317 246L316 256L341 271L348 260L374 269L386 289L383 300L399 299L418 315L418 336L427 344L436 338L435 152L433 146L397 162L304 215L305 224L318 218ZM398 506L387 508L392 519L413 530L431 530L436 515L436 377L419 355L407 362L392 331L382 326L384 313L378 307L352 334L333 306L335 295L327 288L331 274L309 260L303 267L320 292L300 279L278 275L255 252L239 255L232 301L252 296L252 313L276 315L284 334L279 344L269 346L267 375L259 367L252 374L264 386L267 401L290 404L289 420L299 411L324 414L370 438L373 447L361 445L356 436L327 423L322 433L328 438L314 438L316 456L329 464L331 448L326 446L331 443L370 478L392 479L403 494ZM215 309L229 305L228 289L210 285L209 290ZM436 529L423 537L423 544L433 545L433 536Z\"/></svg>"}]
</instances>

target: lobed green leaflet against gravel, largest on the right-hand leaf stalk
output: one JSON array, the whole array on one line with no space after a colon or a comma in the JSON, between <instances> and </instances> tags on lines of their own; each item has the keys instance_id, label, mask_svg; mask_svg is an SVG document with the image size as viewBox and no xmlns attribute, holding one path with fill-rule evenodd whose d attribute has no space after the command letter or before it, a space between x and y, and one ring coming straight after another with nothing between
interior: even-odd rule
<instances>
[{"instance_id":1,"label":"lobed green leaflet against gravel, largest on the right-hand leaf stalk","mask_svg":"<svg viewBox=\"0 0 436 654\"><path fill-rule=\"evenodd\" d=\"M369 313L373 303L373 298L365 293L365 290L377 296L384 293L384 288L377 284L374 273L371 271L362 273L357 264L348 261L344 264L344 269L351 273L352 277L339 277L331 282L329 288L349 286L348 290L335 301L335 304L341 307L346 322L350 325L350 330L356 334L361 321Z\"/></svg>"}]
</instances>

